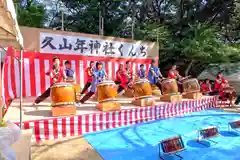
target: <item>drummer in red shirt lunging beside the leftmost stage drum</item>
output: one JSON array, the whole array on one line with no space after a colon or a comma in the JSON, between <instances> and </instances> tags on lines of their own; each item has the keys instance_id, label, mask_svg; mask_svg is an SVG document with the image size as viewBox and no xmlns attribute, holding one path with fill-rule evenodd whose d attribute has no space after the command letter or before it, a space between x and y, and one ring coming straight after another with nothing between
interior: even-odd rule
<instances>
[{"instance_id":1,"label":"drummer in red shirt lunging beside the leftmost stage drum","mask_svg":"<svg viewBox=\"0 0 240 160\"><path fill-rule=\"evenodd\" d=\"M50 76L51 86L55 83L65 81L65 79L67 78L65 70L62 66L60 66L60 59L58 57L53 57L53 67L49 72L46 73L46 75ZM34 101L34 105L39 104L50 96L50 87L42 95L36 98L36 100Z\"/></svg>"}]
</instances>

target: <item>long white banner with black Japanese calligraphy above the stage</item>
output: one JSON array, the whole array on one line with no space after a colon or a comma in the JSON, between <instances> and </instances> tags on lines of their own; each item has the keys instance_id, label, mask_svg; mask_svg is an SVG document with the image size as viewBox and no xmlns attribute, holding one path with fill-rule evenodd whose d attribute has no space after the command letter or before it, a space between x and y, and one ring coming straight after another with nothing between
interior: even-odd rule
<instances>
[{"instance_id":1,"label":"long white banner with black Japanese calligraphy above the stage","mask_svg":"<svg viewBox=\"0 0 240 160\"><path fill-rule=\"evenodd\" d=\"M40 33L40 52L117 58L147 58L150 44L98 39L84 36Z\"/></svg>"}]
</instances>

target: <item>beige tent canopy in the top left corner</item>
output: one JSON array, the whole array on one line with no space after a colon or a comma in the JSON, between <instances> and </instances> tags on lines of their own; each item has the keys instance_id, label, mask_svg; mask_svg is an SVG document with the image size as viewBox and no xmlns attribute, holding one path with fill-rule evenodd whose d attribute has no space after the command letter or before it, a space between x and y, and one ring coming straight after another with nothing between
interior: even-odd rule
<instances>
[{"instance_id":1,"label":"beige tent canopy in the top left corner","mask_svg":"<svg viewBox=\"0 0 240 160\"><path fill-rule=\"evenodd\" d=\"M17 15L12 0L0 0L0 47L14 47L17 50L23 49L23 38L17 23ZM0 58L1 59L1 58ZM0 70L1 71L1 70ZM1 75L1 73L0 73ZM2 81L2 79L1 79ZM0 82L0 97L4 93L4 87ZM0 104L0 120L2 118L3 99Z\"/></svg>"}]
</instances>

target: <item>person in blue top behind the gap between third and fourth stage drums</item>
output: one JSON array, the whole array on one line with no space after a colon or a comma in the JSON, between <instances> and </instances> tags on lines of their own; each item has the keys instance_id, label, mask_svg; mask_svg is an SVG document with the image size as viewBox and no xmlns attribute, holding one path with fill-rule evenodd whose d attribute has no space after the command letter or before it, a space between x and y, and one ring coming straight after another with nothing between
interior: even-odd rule
<instances>
[{"instance_id":1,"label":"person in blue top behind the gap between third and fourth stage drums","mask_svg":"<svg viewBox=\"0 0 240 160\"><path fill-rule=\"evenodd\" d=\"M159 79L163 78L162 73L160 72L160 69L157 67L156 61L153 59L151 63L151 67L148 71L148 80L150 84L156 85L161 90L161 84L159 82Z\"/></svg>"}]
</instances>

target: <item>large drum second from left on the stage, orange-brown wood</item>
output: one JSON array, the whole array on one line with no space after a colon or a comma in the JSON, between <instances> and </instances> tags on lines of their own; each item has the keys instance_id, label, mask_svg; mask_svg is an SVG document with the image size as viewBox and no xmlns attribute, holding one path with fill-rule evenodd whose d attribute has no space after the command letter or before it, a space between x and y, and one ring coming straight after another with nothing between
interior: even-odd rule
<instances>
[{"instance_id":1,"label":"large drum second from left on the stage, orange-brown wood","mask_svg":"<svg viewBox=\"0 0 240 160\"><path fill-rule=\"evenodd\" d=\"M116 85L113 81L103 81L97 86L97 99L99 102L111 100L118 95Z\"/></svg>"}]
</instances>

